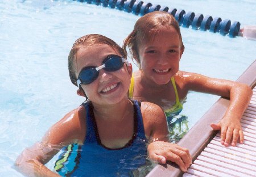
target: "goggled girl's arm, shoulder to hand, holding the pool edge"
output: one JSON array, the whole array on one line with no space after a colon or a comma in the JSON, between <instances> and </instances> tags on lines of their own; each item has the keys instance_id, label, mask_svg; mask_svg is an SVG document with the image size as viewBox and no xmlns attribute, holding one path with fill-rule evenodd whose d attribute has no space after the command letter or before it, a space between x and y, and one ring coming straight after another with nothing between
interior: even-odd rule
<instances>
[{"instance_id":1,"label":"goggled girl's arm, shoulder to hand, holding the pool edge","mask_svg":"<svg viewBox=\"0 0 256 177\"><path fill-rule=\"evenodd\" d=\"M142 102L145 134L151 141L147 147L149 157L158 163L175 162L182 171L191 164L188 149L168 142L168 125L162 108L153 103Z\"/></svg>"}]
</instances>

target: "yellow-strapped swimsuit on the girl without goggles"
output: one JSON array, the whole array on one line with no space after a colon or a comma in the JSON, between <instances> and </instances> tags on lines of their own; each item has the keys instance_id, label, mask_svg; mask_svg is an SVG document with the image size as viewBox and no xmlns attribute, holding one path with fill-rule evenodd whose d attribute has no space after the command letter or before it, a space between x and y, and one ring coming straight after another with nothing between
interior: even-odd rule
<instances>
[{"instance_id":1,"label":"yellow-strapped swimsuit on the girl without goggles","mask_svg":"<svg viewBox=\"0 0 256 177\"><path fill-rule=\"evenodd\" d=\"M179 115L179 113L183 109L183 106L179 100L179 95L177 94L177 88L176 88L174 77L171 77L171 82L172 82L172 86L174 87L174 91L175 91L176 103L171 108L164 110L164 113L166 113L167 118ZM129 98L133 98L133 91L134 91L134 73L133 73L133 76L131 77L131 85L129 88Z\"/></svg>"}]
</instances>

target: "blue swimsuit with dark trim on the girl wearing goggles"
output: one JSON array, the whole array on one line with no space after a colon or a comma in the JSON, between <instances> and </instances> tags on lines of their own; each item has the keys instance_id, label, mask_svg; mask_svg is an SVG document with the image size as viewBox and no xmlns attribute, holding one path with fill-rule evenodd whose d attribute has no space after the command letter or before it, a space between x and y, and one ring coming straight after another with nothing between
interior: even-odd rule
<instances>
[{"instance_id":1,"label":"blue swimsuit with dark trim on the girl wearing goggles","mask_svg":"<svg viewBox=\"0 0 256 177\"><path fill-rule=\"evenodd\" d=\"M134 134L124 147L110 149L101 144L92 104L86 108L84 145L69 145L55 163L61 176L133 176L133 170L145 165L147 158L141 108L134 103Z\"/></svg>"}]
</instances>

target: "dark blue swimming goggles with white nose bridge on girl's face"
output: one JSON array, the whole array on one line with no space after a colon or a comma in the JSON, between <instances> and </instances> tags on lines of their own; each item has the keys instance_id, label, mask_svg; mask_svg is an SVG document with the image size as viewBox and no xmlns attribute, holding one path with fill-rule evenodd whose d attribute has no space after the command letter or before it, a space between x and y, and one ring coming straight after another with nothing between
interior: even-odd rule
<instances>
[{"instance_id":1,"label":"dark blue swimming goggles with white nose bridge on girl's face","mask_svg":"<svg viewBox=\"0 0 256 177\"><path fill-rule=\"evenodd\" d=\"M101 66L88 66L82 69L77 79L77 86L80 87L81 84L86 85L95 81L98 78L100 69L104 69L106 71L117 71L122 68L123 63L125 62L127 65L130 65L129 62L125 60L125 58L111 54L103 60Z\"/></svg>"}]
</instances>

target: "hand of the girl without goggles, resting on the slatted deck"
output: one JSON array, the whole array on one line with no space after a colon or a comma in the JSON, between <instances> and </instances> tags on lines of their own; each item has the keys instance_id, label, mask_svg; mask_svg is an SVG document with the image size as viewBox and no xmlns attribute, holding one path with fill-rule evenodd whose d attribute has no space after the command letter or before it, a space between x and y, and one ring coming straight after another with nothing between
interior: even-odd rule
<instances>
[{"instance_id":1,"label":"hand of the girl without goggles, resting on the slatted deck","mask_svg":"<svg viewBox=\"0 0 256 177\"><path fill-rule=\"evenodd\" d=\"M211 124L210 127L214 130L221 130L222 145L229 146L231 142L232 146L236 146L238 137L240 138L240 144L243 144L244 139L240 120L224 117L218 124Z\"/></svg>"}]
</instances>

